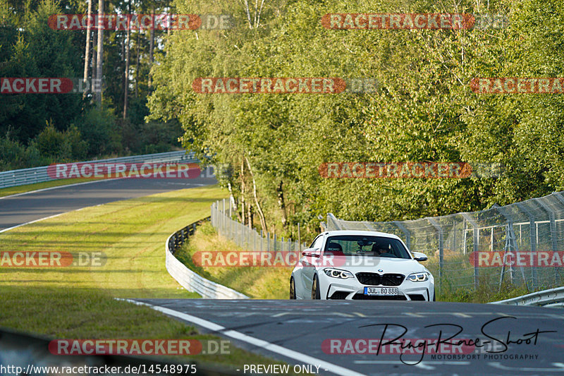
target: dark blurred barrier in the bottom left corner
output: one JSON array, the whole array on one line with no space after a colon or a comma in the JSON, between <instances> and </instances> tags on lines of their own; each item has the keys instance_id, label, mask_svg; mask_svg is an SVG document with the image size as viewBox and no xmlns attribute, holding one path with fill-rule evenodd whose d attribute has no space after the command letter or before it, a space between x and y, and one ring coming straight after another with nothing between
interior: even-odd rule
<instances>
[{"instance_id":1,"label":"dark blurred barrier in the bottom left corner","mask_svg":"<svg viewBox=\"0 0 564 376\"><path fill-rule=\"evenodd\" d=\"M171 365L177 365L171 367ZM179 375L174 372L178 369L178 365L182 365L180 375L189 375L190 370L196 370L195 375L219 376L219 375L241 375L240 372L234 370L221 369L213 365L204 365L202 363L190 361L186 358L175 362L168 358L157 358L155 356L122 356L122 355L87 355L87 356L61 356L54 355L49 351L49 339L20 334L10 329L0 329L0 369L8 370L2 372L2 375L18 375L16 370L10 368L19 367L23 371L19 375L48 376L63 375L62 367L81 367L88 366L97 369L104 367L119 370L113 373L113 376L119 375L142 375L147 372L133 372L132 368L140 369L159 369L158 372L148 372L149 375ZM152 367L153 366L153 367ZM166 366L166 367L165 367ZM9 368L8 368L9 367ZM29 369L28 369L29 367ZM33 367L33 368L31 368ZM119 369L117 367L120 367ZM56 372L54 368L58 368ZM165 372L164 370L168 371ZM174 370L174 371L173 371ZM13 371L13 372L10 372ZM69 374L70 375L70 374ZM99 372L99 375L109 375L106 372Z\"/></svg>"}]
</instances>

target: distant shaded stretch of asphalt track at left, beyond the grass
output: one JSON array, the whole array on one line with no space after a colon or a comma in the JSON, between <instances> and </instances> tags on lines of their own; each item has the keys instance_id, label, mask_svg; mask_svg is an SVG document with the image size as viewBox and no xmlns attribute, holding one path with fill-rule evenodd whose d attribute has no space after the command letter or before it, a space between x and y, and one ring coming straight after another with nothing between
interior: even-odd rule
<instances>
[{"instance_id":1,"label":"distant shaded stretch of asphalt track at left, beyond the grass","mask_svg":"<svg viewBox=\"0 0 564 376\"><path fill-rule=\"evenodd\" d=\"M215 178L112 179L0 198L0 231L55 214L154 193L209 186Z\"/></svg>"}]
</instances>

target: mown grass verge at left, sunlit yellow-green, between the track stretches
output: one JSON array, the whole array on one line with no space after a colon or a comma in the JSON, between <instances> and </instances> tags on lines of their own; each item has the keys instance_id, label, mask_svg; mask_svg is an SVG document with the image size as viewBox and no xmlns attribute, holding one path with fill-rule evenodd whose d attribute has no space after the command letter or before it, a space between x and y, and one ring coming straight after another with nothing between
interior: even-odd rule
<instances>
[{"instance_id":1,"label":"mown grass verge at left, sunlit yellow-green, between the track stretches","mask_svg":"<svg viewBox=\"0 0 564 376\"><path fill-rule=\"evenodd\" d=\"M207 217L209 205L225 195L217 187L176 190L87 207L0 234L0 251L107 257L105 265L90 267L0 264L0 327L66 339L219 339L115 298L196 298L166 272L164 243L174 231ZM192 358L223 365L279 363L234 346L230 351Z\"/></svg>"}]
</instances>

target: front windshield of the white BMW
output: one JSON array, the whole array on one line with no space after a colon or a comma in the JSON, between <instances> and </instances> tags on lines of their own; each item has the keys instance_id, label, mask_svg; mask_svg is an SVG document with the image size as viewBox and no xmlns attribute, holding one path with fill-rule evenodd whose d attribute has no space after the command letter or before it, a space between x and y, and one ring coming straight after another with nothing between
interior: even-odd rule
<instances>
[{"instance_id":1,"label":"front windshield of the white BMW","mask_svg":"<svg viewBox=\"0 0 564 376\"><path fill-rule=\"evenodd\" d=\"M398 239L364 235L330 236L324 255L411 258Z\"/></svg>"}]
</instances>

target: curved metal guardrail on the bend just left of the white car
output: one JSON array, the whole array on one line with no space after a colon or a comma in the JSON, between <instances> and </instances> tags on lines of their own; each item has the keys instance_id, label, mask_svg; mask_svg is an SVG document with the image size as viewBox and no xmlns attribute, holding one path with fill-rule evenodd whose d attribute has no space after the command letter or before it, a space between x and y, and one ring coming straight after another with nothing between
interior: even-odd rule
<instances>
[{"instance_id":1,"label":"curved metal guardrail on the bend just left of the white car","mask_svg":"<svg viewBox=\"0 0 564 376\"><path fill-rule=\"evenodd\" d=\"M205 279L200 274L188 269L186 265L174 257L176 249L187 241L190 235L194 234L198 223L201 223L201 221L189 224L166 239L166 270L168 274L171 274L171 277L176 279L180 286L183 286L188 291L199 293L202 298L248 299L249 297L243 293Z\"/></svg>"}]
</instances>

